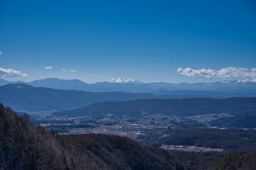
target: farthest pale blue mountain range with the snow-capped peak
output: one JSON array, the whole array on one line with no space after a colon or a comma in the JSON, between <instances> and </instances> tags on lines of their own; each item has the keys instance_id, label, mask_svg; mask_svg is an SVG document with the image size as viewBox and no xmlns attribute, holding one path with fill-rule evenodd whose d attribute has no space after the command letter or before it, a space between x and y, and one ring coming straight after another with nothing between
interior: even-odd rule
<instances>
[{"instance_id":1,"label":"farthest pale blue mountain range with the snow-capped peak","mask_svg":"<svg viewBox=\"0 0 256 170\"><path fill-rule=\"evenodd\" d=\"M98 82L95 84L87 84L78 79L39 79L31 82L23 81L6 81L0 79L0 85L10 83L23 83L38 87L48 87L53 89L78 90L78 91L93 91L93 92L109 92L109 91L125 91L132 93L156 93L159 91L219 91L219 92L239 92L239 93L256 93L256 82L242 81L218 81L213 83L143 83L134 79L112 79L110 82Z\"/></svg>"}]
</instances>

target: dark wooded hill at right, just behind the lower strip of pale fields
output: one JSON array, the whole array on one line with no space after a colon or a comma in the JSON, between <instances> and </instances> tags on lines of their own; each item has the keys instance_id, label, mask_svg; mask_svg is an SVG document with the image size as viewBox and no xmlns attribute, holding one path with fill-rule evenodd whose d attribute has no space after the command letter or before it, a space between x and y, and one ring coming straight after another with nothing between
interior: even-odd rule
<instances>
[{"instance_id":1,"label":"dark wooded hill at right, just behind the lower strip of pale fields","mask_svg":"<svg viewBox=\"0 0 256 170\"><path fill-rule=\"evenodd\" d=\"M164 145L195 145L225 151L241 151L256 148L256 131L206 128L170 130L168 136L162 137L158 142Z\"/></svg>"}]
</instances>

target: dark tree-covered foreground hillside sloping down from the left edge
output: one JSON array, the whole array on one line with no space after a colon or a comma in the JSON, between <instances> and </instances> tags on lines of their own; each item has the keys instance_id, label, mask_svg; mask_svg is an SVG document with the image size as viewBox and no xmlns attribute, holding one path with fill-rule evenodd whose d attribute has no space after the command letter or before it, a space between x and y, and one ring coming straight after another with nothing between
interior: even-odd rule
<instances>
[{"instance_id":1,"label":"dark tree-covered foreground hillside sloping down from the left edge","mask_svg":"<svg viewBox=\"0 0 256 170\"><path fill-rule=\"evenodd\" d=\"M49 133L0 106L0 169L176 168L183 169L163 149L113 135Z\"/></svg>"}]
</instances>

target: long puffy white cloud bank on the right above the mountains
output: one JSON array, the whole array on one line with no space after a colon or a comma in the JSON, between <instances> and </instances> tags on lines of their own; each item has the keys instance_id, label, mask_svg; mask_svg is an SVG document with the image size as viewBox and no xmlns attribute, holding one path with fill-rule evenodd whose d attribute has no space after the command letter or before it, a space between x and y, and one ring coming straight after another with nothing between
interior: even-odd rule
<instances>
[{"instance_id":1,"label":"long puffy white cloud bank on the right above the mountains","mask_svg":"<svg viewBox=\"0 0 256 170\"><path fill-rule=\"evenodd\" d=\"M212 78L256 78L256 69L247 69L247 68L236 68L236 67L227 67L224 69L191 69L190 67L186 69L178 68L179 74L185 75L187 77L201 77L206 79Z\"/></svg>"}]
</instances>

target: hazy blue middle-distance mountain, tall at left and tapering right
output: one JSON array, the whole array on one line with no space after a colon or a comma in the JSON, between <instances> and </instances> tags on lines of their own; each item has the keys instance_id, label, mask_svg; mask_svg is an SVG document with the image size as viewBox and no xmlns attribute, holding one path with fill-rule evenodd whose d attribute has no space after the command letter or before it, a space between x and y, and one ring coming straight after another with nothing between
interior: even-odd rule
<instances>
[{"instance_id":1,"label":"hazy blue middle-distance mountain, tall at left and tapering right","mask_svg":"<svg viewBox=\"0 0 256 170\"><path fill-rule=\"evenodd\" d=\"M65 81L70 83L70 81ZM46 87L36 87L27 84L7 84L0 86L0 101L7 106L20 112L39 112L39 111L66 111L73 108L82 108L92 103L105 101L134 101L144 98L222 98L219 93L196 92L189 94L185 91L174 91L176 94L161 95L149 93L127 93L116 92L88 92L75 90L50 89ZM198 94L196 94L198 93ZM222 95L233 95L225 94Z\"/></svg>"}]
</instances>

